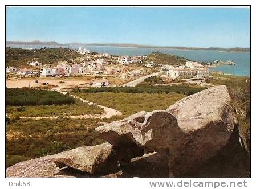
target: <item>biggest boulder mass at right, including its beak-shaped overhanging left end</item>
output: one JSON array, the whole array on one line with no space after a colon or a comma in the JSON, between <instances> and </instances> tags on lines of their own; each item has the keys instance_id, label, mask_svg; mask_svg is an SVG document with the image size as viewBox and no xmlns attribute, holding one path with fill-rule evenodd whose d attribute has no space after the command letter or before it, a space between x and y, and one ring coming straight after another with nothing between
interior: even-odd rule
<instances>
[{"instance_id":1,"label":"biggest boulder mass at right, including its beak-shaped overhanging left end","mask_svg":"<svg viewBox=\"0 0 256 189\"><path fill-rule=\"evenodd\" d=\"M137 146L169 157L170 176L179 176L214 157L237 125L226 86L183 98L166 110L139 112L96 128L113 146Z\"/></svg>"}]
</instances>

